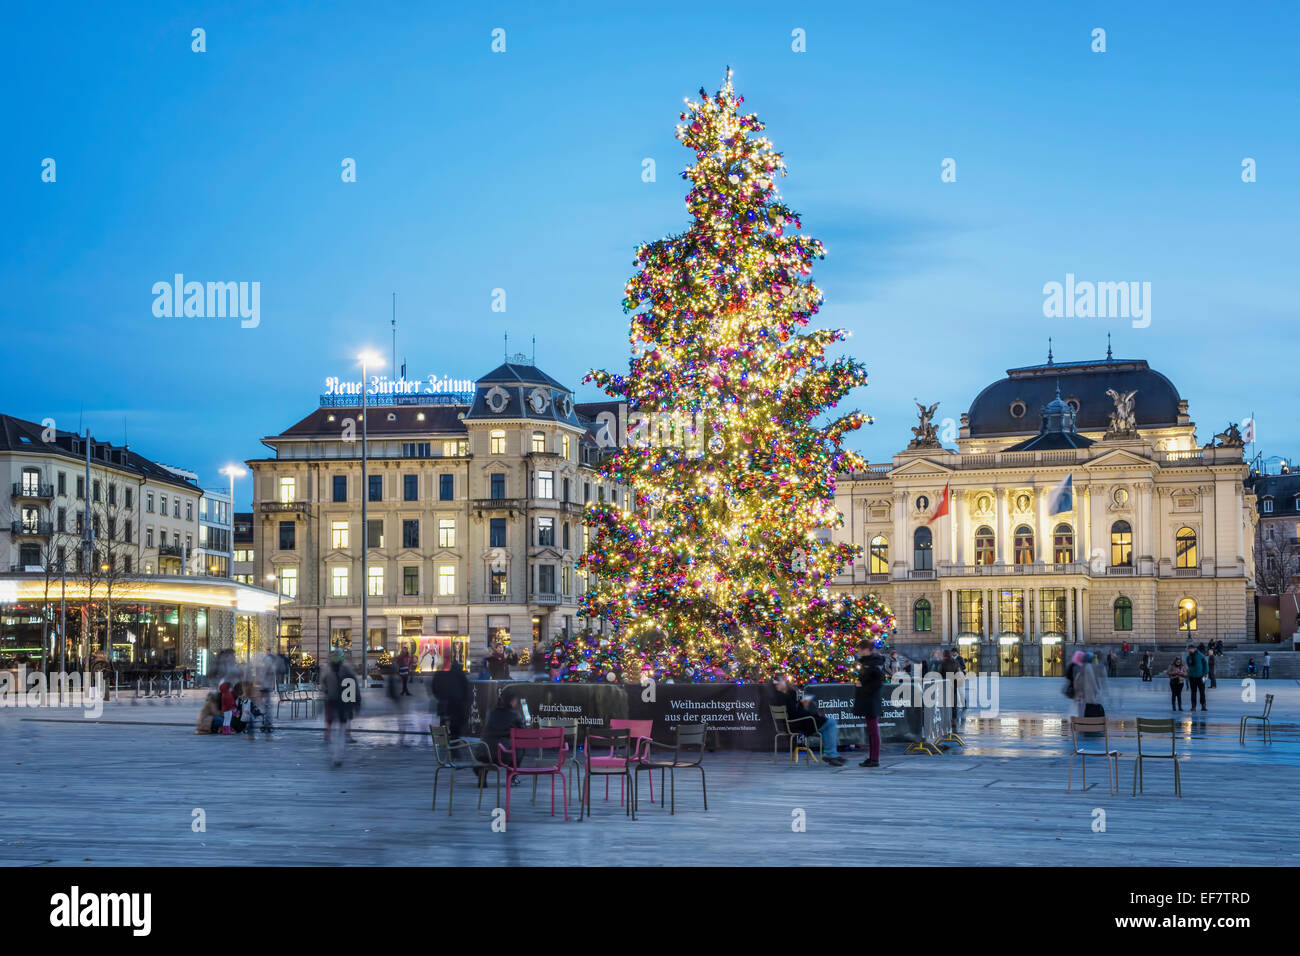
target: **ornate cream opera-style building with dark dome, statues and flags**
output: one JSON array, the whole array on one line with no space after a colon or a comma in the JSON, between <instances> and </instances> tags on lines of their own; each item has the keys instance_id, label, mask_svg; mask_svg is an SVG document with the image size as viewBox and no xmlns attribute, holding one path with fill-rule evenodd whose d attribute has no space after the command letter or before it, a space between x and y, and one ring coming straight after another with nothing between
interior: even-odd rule
<instances>
[{"instance_id":1,"label":"ornate cream opera-style building with dark dome, statues and flags","mask_svg":"<svg viewBox=\"0 0 1300 956\"><path fill-rule=\"evenodd\" d=\"M956 447L933 415L920 407L909 447L837 489L836 535L863 549L837 587L887 601L898 644L958 644L982 670L1037 675L1075 644L1253 639L1240 436L1199 444L1147 362L1009 369Z\"/></svg>"}]
</instances>

